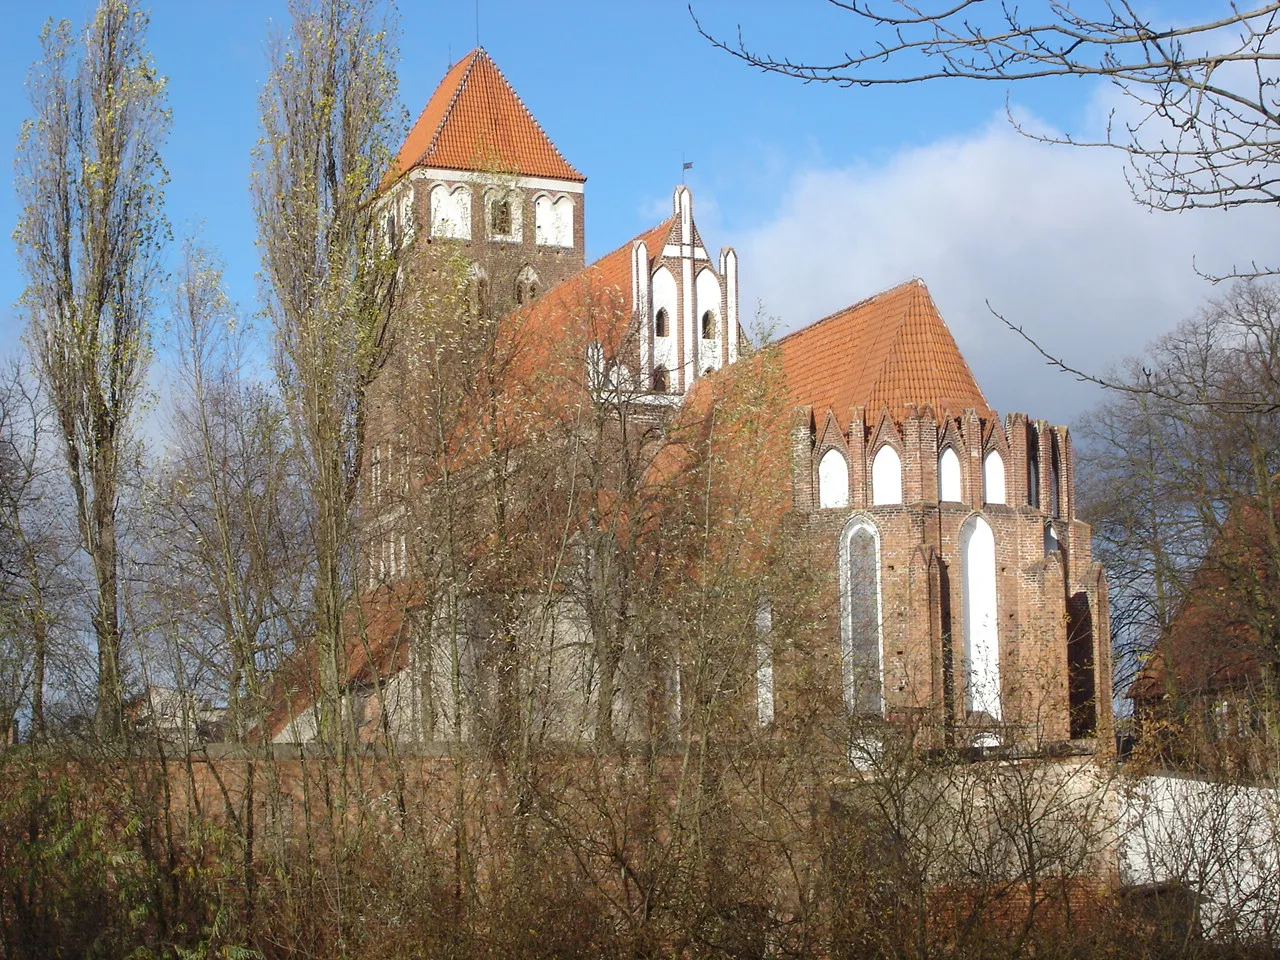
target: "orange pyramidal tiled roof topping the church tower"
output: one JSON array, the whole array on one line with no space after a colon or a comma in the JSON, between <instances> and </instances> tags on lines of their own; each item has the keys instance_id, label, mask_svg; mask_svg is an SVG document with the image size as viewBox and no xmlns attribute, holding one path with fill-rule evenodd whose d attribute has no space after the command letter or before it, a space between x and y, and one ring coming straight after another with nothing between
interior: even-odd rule
<instances>
[{"instance_id":1,"label":"orange pyramidal tiled roof topping the church tower","mask_svg":"<svg viewBox=\"0 0 1280 960\"><path fill-rule=\"evenodd\" d=\"M586 180L556 148L484 47L444 74L383 186L415 166Z\"/></svg>"}]
</instances>

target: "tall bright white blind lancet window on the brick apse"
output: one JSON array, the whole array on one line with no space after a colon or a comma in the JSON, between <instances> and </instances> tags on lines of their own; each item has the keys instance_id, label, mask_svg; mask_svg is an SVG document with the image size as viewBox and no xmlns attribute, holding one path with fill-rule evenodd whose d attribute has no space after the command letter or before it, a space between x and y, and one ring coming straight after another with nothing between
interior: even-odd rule
<instances>
[{"instance_id":1,"label":"tall bright white blind lancet window on the brick apse","mask_svg":"<svg viewBox=\"0 0 1280 960\"><path fill-rule=\"evenodd\" d=\"M1000 628L996 611L996 536L982 517L960 530L964 579L965 707L1000 719Z\"/></svg>"}]
</instances>

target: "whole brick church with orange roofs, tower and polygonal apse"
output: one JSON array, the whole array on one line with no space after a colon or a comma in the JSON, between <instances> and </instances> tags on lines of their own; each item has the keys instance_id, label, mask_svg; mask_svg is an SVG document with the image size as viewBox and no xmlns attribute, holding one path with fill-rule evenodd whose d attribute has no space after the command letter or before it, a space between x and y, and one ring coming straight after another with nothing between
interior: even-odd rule
<instances>
[{"instance_id":1,"label":"whole brick church with orange roofs, tower and polygonal apse","mask_svg":"<svg viewBox=\"0 0 1280 960\"><path fill-rule=\"evenodd\" d=\"M726 676L741 678L732 696L750 726L783 728L803 703L822 700L927 730L933 745L1107 744L1106 577L1075 513L1068 430L992 410L919 279L754 344L739 319L737 255L705 244L684 186L669 218L588 264L585 180L475 50L445 74L383 184L387 234L412 236L430 252L422 276L458 278L457 330L495 330L500 347L484 356L493 369L500 355L502 372L476 375L475 356L440 333L445 323L406 321L413 333L403 343L421 349L403 352L419 360L389 367L371 392L360 596L343 664L357 735L479 737L502 691L520 687L534 704L526 719L536 714L557 741L653 736L643 716L655 709L668 724L659 732L678 737L696 664L682 653L641 663L625 637L609 654L603 635L621 636L641 608L671 623L667 632L682 630L694 608L678 588L655 602L636 581L666 584L675 568L694 584L694 561L669 543L636 549L635 575L617 590L640 599L602 607L579 598L608 566L591 545L603 540L600 517L613 511L608 543L623 553L618 544L644 543L675 512L672 495L653 492L696 472L717 490L714 509L700 515L704 543L719 554L749 543L744 556L772 552L781 571L768 589L737 595L749 579L739 571L714 593L736 598L756 637L721 648L740 660ZM417 392L421 357L452 357L470 371L440 375L456 396ZM439 429L445 407L448 430ZM557 431L581 445L585 408L607 410L593 435L618 452L603 467L584 460L596 471L589 507L579 506L586 474L564 480L566 448L547 453ZM429 421L435 439L419 443ZM746 434L755 445L724 439ZM429 443L430 457L420 453ZM424 467L425 457L435 466ZM492 484L521 470L534 479L503 480L497 499L480 492L481 475ZM634 490L660 508L613 506ZM575 521L549 531L553 500L557 516ZM468 545L444 544L445 526L466 527ZM495 554L504 566L486 568ZM805 582L795 586L800 568ZM526 576L550 584L541 600L511 586ZM801 591L805 627L774 649L771 631L781 636L783 608ZM522 598L515 611L512 594ZM545 639L544 653L504 667L507 648L538 646L529 637ZM278 741L316 736L305 673L278 680Z\"/></svg>"}]
</instances>

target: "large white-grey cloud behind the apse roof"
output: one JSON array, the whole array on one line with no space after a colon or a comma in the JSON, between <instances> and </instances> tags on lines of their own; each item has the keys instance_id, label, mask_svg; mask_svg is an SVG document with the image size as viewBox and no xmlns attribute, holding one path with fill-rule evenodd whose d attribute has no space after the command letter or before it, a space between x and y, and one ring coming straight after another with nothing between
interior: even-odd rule
<instances>
[{"instance_id":1,"label":"large white-grey cloud behind the apse roof","mask_svg":"<svg viewBox=\"0 0 1280 960\"><path fill-rule=\"evenodd\" d=\"M1029 141L1001 118L881 165L797 170L776 218L737 239L744 315L760 300L786 332L920 276L992 406L1070 421L1098 392L1043 366L987 301L1102 372L1213 294L1194 266L1280 248L1270 207L1149 212L1123 169L1116 152Z\"/></svg>"}]
</instances>

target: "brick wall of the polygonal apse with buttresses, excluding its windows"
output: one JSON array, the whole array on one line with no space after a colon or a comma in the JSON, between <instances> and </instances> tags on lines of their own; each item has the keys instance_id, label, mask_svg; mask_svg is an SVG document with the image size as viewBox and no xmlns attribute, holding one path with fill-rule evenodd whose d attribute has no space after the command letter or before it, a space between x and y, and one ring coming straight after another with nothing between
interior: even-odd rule
<instances>
[{"instance_id":1,"label":"brick wall of the polygonal apse with buttresses, excluding its windows","mask_svg":"<svg viewBox=\"0 0 1280 960\"><path fill-rule=\"evenodd\" d=\"M975 513L996 540L997 617L1004 719L1029 742L1070 736L1068 675L1069 598L1087 598L1093 626L1096 739L1111 742L1110 632L1105 575L1092 561L1091 531L1074 517L1074 458L1065 428L1029 422L1015 413L1005 424L974 411L941 422L933 410L909 410L901 424L881 416L874 425L855 408L847 433L837 436L826 419L797 408L791 431L792 525L809 540L818 568L831 570L826 589L824 635L819 641L840 658L840 536L855 516L870 518L881 538L882 630L887 712L927 716L933 722L964 718L964 577L961 532ZM870 463L883 443L902 460L904 503L870 506ZM1028 443L1038 458L1037 504L1029 503ZM938 502L938 457L952 447L961 463L963 502ZM828 449L849 457L850 506L818 508L818 461ZM986 504L983 457L996 449L1005 462L1005 504ZM1059 488L1052 480L1053 463ZM1053 503L1059 516L1052 516ZM1046 529L1060 549L1048 550ZM826 562L823 558L829 558ZM946 596L943 596L946 594ZM950 675L951 682L947 685ZM837 678L838 680L838 678Z\"/></svg>"}]
</instances>

